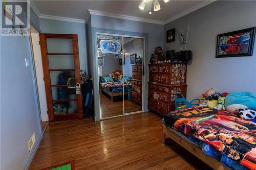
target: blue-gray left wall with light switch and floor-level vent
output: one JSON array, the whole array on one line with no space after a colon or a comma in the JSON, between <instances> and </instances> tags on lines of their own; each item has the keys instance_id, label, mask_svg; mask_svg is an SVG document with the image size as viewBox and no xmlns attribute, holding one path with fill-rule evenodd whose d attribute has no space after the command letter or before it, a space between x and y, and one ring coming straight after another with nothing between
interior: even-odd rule
<instances>
[{"instance_id":1,"label":"blue-gray left wall with light switch and floor-level vent","mask_svg":"<svg viewBox=\"0 0 256 170\"><path fill-rule=\"evenodd\" d=\"M39 23L37 17L31 18ZM1 170L28 168L41 141L29 37L1 36ZM25 67L25 58L29 67ZM36 141L29 152L28 141Z\"/></svg>"}]
</instances>

